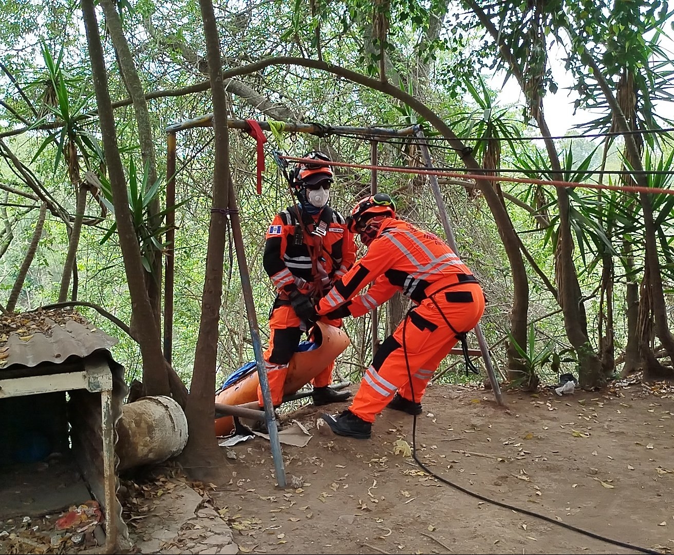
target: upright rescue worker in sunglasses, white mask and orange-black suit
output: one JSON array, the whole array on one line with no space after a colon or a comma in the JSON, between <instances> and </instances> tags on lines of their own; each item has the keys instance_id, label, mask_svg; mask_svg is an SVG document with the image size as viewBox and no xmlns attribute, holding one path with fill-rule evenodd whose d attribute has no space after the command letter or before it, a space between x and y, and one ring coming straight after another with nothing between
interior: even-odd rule
<instances>
[{"instance_id":1,"label":"upright rescue worker in sunglasses, white mask and orange-black suit","mask_svg":"<svg viewBox=\"0 0 674 555\"><path fill-rule=\"evenodd\" d=\"M322 152L303 158L327 160ZM322 298L353 265L356 259L354 235L346 220L328 205L333 173L330 166L298 164L290 176L298 203L276 214L266 234L263 265L278 294L270 311L270 341L264 352L274 407L281 404L288 363L297 350L303 332L316 320L315 302ZM339 327L341 319L326 323ZM334 362L313 380L313 404L344 401L350 391L334 391ZM262 387L257 400L264 405Z\"/></svg>"}]
</instances>

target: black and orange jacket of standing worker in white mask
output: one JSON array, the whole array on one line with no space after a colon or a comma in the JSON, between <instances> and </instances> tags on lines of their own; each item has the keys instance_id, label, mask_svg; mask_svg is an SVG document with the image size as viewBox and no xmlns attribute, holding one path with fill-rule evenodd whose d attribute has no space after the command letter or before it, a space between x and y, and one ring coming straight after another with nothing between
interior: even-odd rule
<instances>
[{"instance_id":1,"label":"black and orange jacket of standing worker in white mask","mask_svg":"<svg viewBox=\"0 0 674 555\"><path fill-rule=\"evenodd\" d=\"M356 260L353 234L338 211L332 211L326 236L322 238L310 235L320 214L311 216L304 211L302 214L306 233L300 226L296 207L276 214L266 233L263 265L281 296L286 296L294 286L303 293L311 291L323 296L322 291L315 290L314 284L324 278L329 288Z\"/></svg>"}]
</instances>

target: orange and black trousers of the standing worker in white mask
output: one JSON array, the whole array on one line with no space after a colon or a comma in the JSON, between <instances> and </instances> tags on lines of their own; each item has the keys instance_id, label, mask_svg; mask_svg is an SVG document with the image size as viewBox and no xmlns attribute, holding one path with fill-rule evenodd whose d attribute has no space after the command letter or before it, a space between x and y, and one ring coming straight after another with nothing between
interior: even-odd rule
<instances>
[{"instance_id":1,"label":"orange and black trousers of the standing worker in white mask","mask_svg":"<svg viewBox=\"0 0 674 555\"><path fill-rule=\"evenodd\" d=\"M335 327L342 325L342 320L324 320ZM283 400L283 386L288 374L288 363L302 338L302 321L290 304L282 304L272 309L269 318L270 338L269 345L263 353L264 365L267 370L269 389L272 393L272 404L278 407ZM311 380L313 387L326 387L332 383L334 361ZM257 386L257 403L262 407L262 386Z\"/></svg>"}]
</instances>

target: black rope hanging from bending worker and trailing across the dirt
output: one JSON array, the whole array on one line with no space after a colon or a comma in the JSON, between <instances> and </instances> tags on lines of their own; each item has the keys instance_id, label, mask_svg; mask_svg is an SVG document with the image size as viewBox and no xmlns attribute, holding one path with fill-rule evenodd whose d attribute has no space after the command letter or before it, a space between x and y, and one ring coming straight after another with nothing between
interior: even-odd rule
<instances>
[{"instance_id":1,"label":"black rope hanging from bending worker and trailing across the dirt","mask_svg":"<svg viewBox=\"0 0 674 555\"><path fill-rule=\"evenodd\" d=\"M405 354L405 364L407 366L407 376L410 381L410 390L412 391L412 402L415 401L415 389L414 389L414 384L412 383L412 371L410 370L410 360L407 356L407 346L406 346L406 328L407 328L407 320L409 317L410 312L412 311L414 307L412 306L406 313L405 319L402 323L402 350ZM445 478L442 478L442 476L438 476L435 474L429 467L427 467L424 463L422 463L419 458L417 457L417 415L414 415L414 421L412 422L412 459L415 460L415 462L421 467L425 472L427 472L430 476L433 476L436 480L439 480L443 484L447 484L448 486L451 486L452 488L459 490L460 492L470 495L471 497L474 497L476 499L479 499L481 501L484 501L486 503L490 503L493 505L496 505L497 507L501 507L503 509L510 509L510 511L516 511L516 513L522 513L522 515L528 515L529 517L534 517L536 519L541 519L545 522L555 524L557 526L561 526L562 528L566 528L568 530L578 532L582 535L586 535L588 537L594 538L594 540L599 540L600 542L605 542L607 544L612 544L614 546L619 546L621 548L625 549L630 549L634 551L638 551L640 553L649 553L649 554L654 554L654 555L660 555L660 552L654 551L652 549L648 548L642 548L639 546L634 546L632 544L628 544L627 542L621 542L620 540L613 540L610 537L606 537L604 535L590 532L588 530L584 530L582 528L579 528L577 526L574 526L572 524L567 524L565 522L560 522L557 521L556 519L553 519L551 517L548 517L546 515L541 515L539 513L534 513L534 511L529 511L528 509L521 509L520 507L515 507L514 505L511 505L509 503L504 503L501 501L497 501L495 499L489 498L485 495L479 494L477 492L473 492L471 490L468 490L467 488L464 488L463 486L459 486L458 484L454 484L454 482L450 482L450 480L446 480Z\"/></svg>"}]
</instances>

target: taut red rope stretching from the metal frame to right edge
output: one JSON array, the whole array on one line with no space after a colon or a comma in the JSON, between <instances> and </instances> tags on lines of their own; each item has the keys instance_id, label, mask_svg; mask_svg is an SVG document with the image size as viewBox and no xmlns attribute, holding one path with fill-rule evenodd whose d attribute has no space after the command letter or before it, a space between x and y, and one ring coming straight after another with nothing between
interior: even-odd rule
<instances>
[{"instance_id":1,"label":"taut red rope stretching from the metal frame to right edge","mask_svg":"<svg viewBox=\"0 0 674 555\"><path fill-rule=\"evenodd\" d=\"M443 172L424 168L399 168L395 166L371 166L369 164L349 164L348 162L324 162L323 160L295 158L295 156L279 156L284 160L293 162L309 162L311 164L324 164L325 166L342 166L344 168L361 168L363 170L377 170L384 172L413 173L421 175L435 175L439 177L451 177L462 179L486 179L487 181L508 181L510 183L533 183L534 185L552 185L553 187L582 187L585 189L607 189L609 191L621 191L623 193L663 193L674 195L674 189L657 189L656 187L640 187L638 185L598 185L594 183L574 183L574 181L547 181L545 179L531 179L526 177L505 177L500 175L475 175Z\"/></svg>"}]
</instances>

